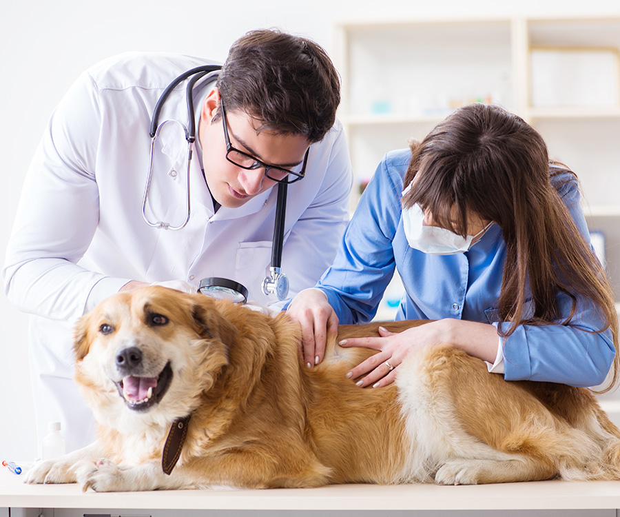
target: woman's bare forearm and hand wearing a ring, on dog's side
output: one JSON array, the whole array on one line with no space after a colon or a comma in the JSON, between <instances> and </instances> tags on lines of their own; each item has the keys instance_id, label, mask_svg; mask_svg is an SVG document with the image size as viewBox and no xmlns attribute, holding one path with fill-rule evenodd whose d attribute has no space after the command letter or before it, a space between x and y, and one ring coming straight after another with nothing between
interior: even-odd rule
<instances>
[{"instance_id":1,"label":"woman's bare forearm and hand wearing a ring, on dog's side","mask_svg":"<svg viewBox=\"0 0 620 517\"><path fill-rule=\"evenodd\" d=\"M497 330L487 323L443 319L404 330L389 332L379 327L378 338L351 338L340 341L341 347L365 347L379 352L351 369L348 378L358 378L358 386L383 387L394 382L400 363L414 349L446 343L483 361L495 361Z\"/></svg>"}]
</instances>

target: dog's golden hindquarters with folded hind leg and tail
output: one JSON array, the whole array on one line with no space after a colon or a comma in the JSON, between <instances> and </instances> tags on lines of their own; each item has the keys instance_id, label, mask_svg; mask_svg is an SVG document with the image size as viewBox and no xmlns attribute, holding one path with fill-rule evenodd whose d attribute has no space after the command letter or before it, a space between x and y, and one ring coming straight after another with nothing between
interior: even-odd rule
<instances>
[{"instance_id":1,"label":"dog's golden hindquarters with folded hind leg and tail","mask_svg":"<svg viewBox=\"0 0 620 517\"><path fill-rule=\"evenodd\" d=\"M482 361L458 350L434 347L412 359L403 364L411 370L397 378L415 446L412 477L424 479L422 467L449 484L618 477L613 463L620 448L607 445L617 443L614 429L606 429L588 398L579 399L579 418L570 403L560 405L569 420L522 383L489 374Z\"/></svg>"}]
</instances>

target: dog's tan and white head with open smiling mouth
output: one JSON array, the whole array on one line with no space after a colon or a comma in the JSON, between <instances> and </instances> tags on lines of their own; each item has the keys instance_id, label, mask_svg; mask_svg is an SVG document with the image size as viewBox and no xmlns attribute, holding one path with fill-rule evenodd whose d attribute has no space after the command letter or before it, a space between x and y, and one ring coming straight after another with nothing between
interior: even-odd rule
<instances>
[{"instance_id":1,"label":"dog's tan and white head with open smiling mouth","mask_svg":"<svg viewBox=\"0 0 620 517\"><path fill-rule=\"evenodd\" d=\"M236 338L220 314L222 303L144 287L111 296L83 316L75 377L99 423L118 430L138 420L167 425L192 412Z\"/></svg>"}]
</instances>

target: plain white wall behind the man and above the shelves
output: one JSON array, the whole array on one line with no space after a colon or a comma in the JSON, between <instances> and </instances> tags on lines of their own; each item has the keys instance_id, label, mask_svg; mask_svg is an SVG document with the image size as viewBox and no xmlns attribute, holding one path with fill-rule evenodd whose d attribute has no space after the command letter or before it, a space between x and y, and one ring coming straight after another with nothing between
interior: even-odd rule
<instances>
[{"instance_id":1,"label":"plain white wall behind the man and above the shelves","mask_svg":"<svg viewBox=\"0 0 620 517\"><path fill-rule=\"evenodd\" d=\"M3 0L0 3L0 257L6 250L30 157L54 105L78 74L127 50L225 59L247 30L279 27L331 51L335 21L508 14L620 14L617 0ZM178 7L181 5L182 7ZM36 454L27 317L0 294L0 459Z\"/></svg>"}]
</instances>

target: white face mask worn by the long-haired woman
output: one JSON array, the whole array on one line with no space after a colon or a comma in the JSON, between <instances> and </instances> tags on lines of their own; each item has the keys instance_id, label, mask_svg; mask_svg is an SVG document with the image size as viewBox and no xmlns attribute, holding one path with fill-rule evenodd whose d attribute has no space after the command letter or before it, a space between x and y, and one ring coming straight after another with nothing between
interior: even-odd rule
<instances>
[{"instance_id":1,"label":"white face mask worn by the long-haired woman","mask_svg":"<svg viewBox=\"0 0 620 517\"><path fill-rule=\"evenodd\" d=\"M462 237L460 235L437 226L424 226L424 212L420 205L413 205L402 211L402 224L409 245L415 250L431 255L454 255L466 252L471 247L471 241L484 235L493 223L488 223L475 235Z\"/></svg>"}]
</instances>

